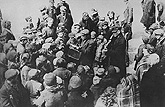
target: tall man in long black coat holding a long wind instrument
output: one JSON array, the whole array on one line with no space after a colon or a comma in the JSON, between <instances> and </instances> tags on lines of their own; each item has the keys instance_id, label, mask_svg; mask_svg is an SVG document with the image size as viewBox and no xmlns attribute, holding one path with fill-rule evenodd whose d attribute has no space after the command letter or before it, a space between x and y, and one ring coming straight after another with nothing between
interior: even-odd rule
<instances>
[{"instance_id":1,"label":"tall man in long black coat holding a long wind instrument","mask_svg":"<svg viewBox=\"0 0 165 107\"><path fill-rule=\"evenodd\" d=\"M126 64L125 64L125 54L126 54L126 40L121 33L121 28L116 27L113 30L112 39L110 44L107 46L108 52L108 65L113 65L119 67L120 76L126 76Z\"/></svg>"}]
</instances>

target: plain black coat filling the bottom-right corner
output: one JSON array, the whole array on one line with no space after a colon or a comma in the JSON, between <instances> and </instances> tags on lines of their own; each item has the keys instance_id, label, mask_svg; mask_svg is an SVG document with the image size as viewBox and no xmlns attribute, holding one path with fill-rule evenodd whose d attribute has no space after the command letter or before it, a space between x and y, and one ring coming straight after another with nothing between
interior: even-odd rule
<instances>
[{"instance_id":1,"label":"plain black coat filling the bottom-right corner","mask_svg":"<svg viewBox=\"0 0 165 107\"><path fill-rule=\"evenodd\" d=\"M164 68L159 64L144 73L140 85L141 107L164 107Z\"/></svg>"}]
</instances>

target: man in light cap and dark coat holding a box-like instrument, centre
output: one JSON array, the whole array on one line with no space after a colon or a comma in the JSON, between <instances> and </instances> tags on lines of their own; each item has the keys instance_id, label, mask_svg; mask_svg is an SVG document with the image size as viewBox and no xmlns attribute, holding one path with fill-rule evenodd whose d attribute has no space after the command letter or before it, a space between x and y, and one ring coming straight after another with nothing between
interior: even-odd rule
<instances>
[{"instance_id":1,"label":"man in light cap and dark coat holding a box-like instrument, centre","mask_svg":"<svg viewBox=\"0 0 165 107\"><path fill-rule=\"evenodd\" d=\"M90 34L88 29L84 29L80 32L82 34L81 36L81 42L80 42L80 48L79 50L82 52L80 57L80 64L81 65L88 65L92 66L95 56L95 44L94 42L90 42Z\"/></svg>"}]
</instances>

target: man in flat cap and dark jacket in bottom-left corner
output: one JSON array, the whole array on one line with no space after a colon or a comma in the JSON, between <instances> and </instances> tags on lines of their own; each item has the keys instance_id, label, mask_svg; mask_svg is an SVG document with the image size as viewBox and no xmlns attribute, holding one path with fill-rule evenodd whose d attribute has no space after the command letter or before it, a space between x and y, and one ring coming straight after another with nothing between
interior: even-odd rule
<instances>
[{"instance_id":1,"label":"man in flat cap and dark jacket in bottom-left corner","mask_svg":"<svg viewBox=\"0 0 165 107\"><path fill-rule=\"evenodd\" d=\"M5 72L6 81L0 89L1 107L30 107L29 93L18 81L18 70Z\"/></svg>"}]
</instances>

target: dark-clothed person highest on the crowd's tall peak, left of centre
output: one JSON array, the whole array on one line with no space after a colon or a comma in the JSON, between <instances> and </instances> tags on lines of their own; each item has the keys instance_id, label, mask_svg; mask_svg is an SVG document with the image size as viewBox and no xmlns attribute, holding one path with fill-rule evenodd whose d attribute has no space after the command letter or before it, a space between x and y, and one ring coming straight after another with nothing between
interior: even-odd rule
<instances>
[{"instance_id":1,"label":"dark-clothed person highest on the crowd's tall peak, left of centre","mask_svg":"<svg viewBox=\"0 0 165 107\"><path fill-rule=\"evenodd\" d=\"M60 14L57 16L57 24L59 23L63 23L68 32L71 32L73 18L72 15L67 12L67 8L65 6L60 7Z\"/></svg>"}]
</instances>

